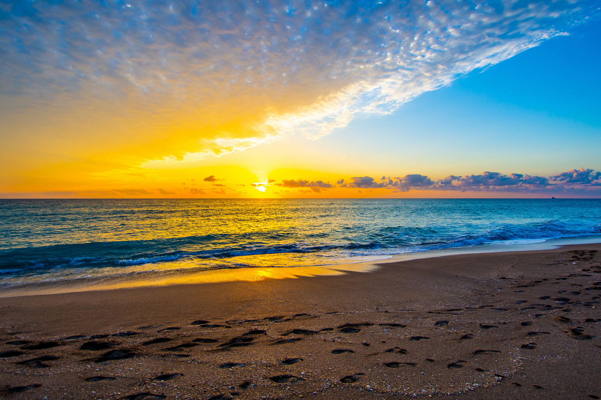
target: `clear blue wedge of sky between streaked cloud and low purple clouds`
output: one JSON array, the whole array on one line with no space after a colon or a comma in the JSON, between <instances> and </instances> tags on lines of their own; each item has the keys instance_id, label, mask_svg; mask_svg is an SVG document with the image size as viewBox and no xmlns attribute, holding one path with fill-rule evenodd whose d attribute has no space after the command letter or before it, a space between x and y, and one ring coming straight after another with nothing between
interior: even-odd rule
<instances>
[{"instance_id":1,"label":"clear blue wedge of sky between streaked cloud and low purple clouds","mask_svg":"<svg viewBox=\"0 0 601 400\"><path fill-rule=\"evenodd\" d=\"M449 164L456 174L599 170L600 37L599 20L578 26L424 93L392 115L357 119L323 138L324 145L344 136L349 155L377 149L373 161L385 170L402 155L413 173L440 175Z\"/></svg>"}]
</instances>

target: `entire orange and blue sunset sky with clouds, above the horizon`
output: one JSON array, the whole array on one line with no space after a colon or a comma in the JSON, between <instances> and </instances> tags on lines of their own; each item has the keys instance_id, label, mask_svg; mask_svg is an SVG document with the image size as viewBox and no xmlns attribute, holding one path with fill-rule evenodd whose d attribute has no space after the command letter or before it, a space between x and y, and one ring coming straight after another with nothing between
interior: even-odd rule
<instances>
[{"instance_id":1,"label":"entire orange and blue sunset sky with clouds, above the horizon","mask_svg":"<svg viewBox=\"0 0 601 400\"><path fill-rule=\"evenodd\" d=\"M601 197L600 17L0 0L0 198Z\"/></svg>"}]
</instances>

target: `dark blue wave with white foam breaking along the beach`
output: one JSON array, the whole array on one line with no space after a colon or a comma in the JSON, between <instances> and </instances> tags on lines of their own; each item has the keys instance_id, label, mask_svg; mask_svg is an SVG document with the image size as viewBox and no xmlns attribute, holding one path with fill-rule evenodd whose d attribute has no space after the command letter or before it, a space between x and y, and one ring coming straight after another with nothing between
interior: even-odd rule
<instances>
[{"instance_id":1,"label":"dark blue wave with white foam breaking along the beach","mask_svg":"<svg viewBox=\"0 0 601 400\"><path fill-rule=\"evenodd\" d=\"M475 234L459 235L447 225L380 227L369 231L364 229L362 233L352 237L335 234L328 237L320 234L308 239L305 236L305 242L295 243L273 243L285 237L281 233L73 243L0 251L0 273L61 267L127 267L185 258L204 260L208 263L236 257L285 253L332 258L398 254L488 243L510 244L524 240L544 241L561 237L601 235L601 224L552 219L534 224L496 224L487 230L483 227L480 230ZM357 240L361 238L370 240ZM328 239L331 243L323 243ZM321 243L308 240L320 240ZM238 244L231 246L233 243ZM252 262L245 261L243 264L252 265Z\"/></svg>"}]
</instances>

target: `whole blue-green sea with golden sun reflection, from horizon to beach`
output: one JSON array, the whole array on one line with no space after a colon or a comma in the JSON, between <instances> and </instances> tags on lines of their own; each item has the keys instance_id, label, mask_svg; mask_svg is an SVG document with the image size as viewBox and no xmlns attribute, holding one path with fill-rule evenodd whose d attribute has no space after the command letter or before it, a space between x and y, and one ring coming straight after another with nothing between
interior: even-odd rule
<instances>
[{"instance_id":1,"label":"whole blue-green sea with golden sun reflection, from horizon to beach","mask_svg":"<svg viewBox=\"0 0 601 400\"><path fill-rule=\"evenodd\" d=\"M0 287L601 235L601 199L0 200Z\"/></svg>"}]
</instances>

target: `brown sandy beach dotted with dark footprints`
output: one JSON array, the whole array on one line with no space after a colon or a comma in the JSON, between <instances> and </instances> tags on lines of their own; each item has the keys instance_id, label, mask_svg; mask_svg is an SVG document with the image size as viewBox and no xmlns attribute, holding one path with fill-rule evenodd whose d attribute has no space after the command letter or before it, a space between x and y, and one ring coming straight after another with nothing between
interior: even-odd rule
<instances>
[{"instance_id":1,"label":"brown sandy beach dotted with dark footprints","mask_svg":"<svg viewBox=\"0 0 601 400\"><path fill-rule=\"evenodd\" d=\"M6 297L0 395L601 398L600 248Z\"/></svg>"}]
</instances>

